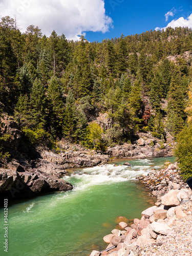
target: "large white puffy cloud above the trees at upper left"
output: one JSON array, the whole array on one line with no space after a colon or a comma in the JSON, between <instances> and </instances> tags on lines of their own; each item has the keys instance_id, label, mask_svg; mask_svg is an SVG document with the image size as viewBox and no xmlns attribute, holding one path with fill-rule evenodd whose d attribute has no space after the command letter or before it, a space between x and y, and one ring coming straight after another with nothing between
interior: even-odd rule
<instances>
[{"instance_id":1,"label":"large white puffy cloud above the trees at upper left","mask_svg":"<svg viewBox=\"0 0 192 256\"><path fill-rule=\"evenodd\" d=\"M22 32L34 25L47 36L55 30L73 40L84 31L105 33L113 23L104 0L1 0L0 10L2 17L16 17Z\"/></svg>"}]
</instances>

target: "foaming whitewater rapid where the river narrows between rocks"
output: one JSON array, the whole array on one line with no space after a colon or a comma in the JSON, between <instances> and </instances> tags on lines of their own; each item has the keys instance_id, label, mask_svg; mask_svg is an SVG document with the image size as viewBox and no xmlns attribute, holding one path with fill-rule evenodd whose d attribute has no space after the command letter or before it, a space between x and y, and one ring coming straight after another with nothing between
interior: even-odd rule
<instances>
[{"instance_id":1,"label":"foaming whitewater rapid where the river narrows between rocks","mask_svg":"<svg viewBox=\"0 0 192 256\"><path fill-rule=\"evenodd\" d=\"M75 184L73 191L79 191L103 184L110 185L119 182L132 181L143 173L151 172L153 168L160 168L160 166L154 166L153 160L151 159L137 159L134 160L134 165L131 164L131 166L103 164L100 166L83 168L76 170L70 176L63 177L63 179Z\"/></svg>"}]
</instances>

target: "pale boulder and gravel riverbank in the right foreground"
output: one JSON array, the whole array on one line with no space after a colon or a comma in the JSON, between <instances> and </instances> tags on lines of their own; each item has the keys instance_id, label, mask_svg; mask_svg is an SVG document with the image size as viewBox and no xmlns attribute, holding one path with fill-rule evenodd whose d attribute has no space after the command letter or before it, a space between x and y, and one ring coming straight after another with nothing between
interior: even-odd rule
<instances>
[{"instance_id":1,"label":"pale boulder and gravel riverbank in the right foreground","mask_svg":"<svg viewBox=\"0 0 192 256\"><path fill-rule=\"evenodd\" d=\"M90 256L191 255L192 190L182 181L176 164L165 163L163 170L143 173L137 180L157 202L130 226L119 222L119 228L103 238L109 244L106 251L92 251Z\"/></svg>"}]
</instances>

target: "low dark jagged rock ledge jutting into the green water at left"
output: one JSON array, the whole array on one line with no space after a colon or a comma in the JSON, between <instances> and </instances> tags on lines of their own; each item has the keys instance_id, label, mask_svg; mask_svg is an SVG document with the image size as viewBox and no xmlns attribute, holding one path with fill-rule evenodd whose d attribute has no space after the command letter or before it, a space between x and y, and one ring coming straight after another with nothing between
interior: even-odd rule
<instances>
[{"instance_id":1,"label":"low dark jagged rock ledge jutting into the green water at left","mask_svg":"<svg viewBox=\"0 0 192 256\"><path fill-rule=\"evenodd\" d=\"M66 191L73 186L65 180L58 179L35 170L18 173L15 170L0 169L0 198L25 198L50 191Z\"/></svg>"}]
</instances>

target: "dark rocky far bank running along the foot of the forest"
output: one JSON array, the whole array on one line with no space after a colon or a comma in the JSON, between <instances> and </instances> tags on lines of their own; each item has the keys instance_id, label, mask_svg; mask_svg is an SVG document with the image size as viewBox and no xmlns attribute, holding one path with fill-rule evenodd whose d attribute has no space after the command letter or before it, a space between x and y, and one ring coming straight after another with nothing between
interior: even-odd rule
<instances>
[{"instance_id":1,"label":"dark rocky far bank running along the foot of the forest","mask_svg":"<svg viewBox=\"0 0 192 256\"><path fill-rule=\"evenodd\" d=\"M116 158L172 156L174 146L172 141L162 144L150 133L140 133L140 138L136 139L133 145L124 143L108 147L104 153L91 151L67 141L58 142L56 150L48 151L44 147L35 148L31 145L12 118L5 117L2 121L3 133L10 136L4 146L11 157L8 161L2 161L0 197L11 197L10 188L18 190L15 198L72 189L71 184L63 185L63 181L59 179L68 173L68 168L92 167Z\"/></svg>"}]
</instances>

